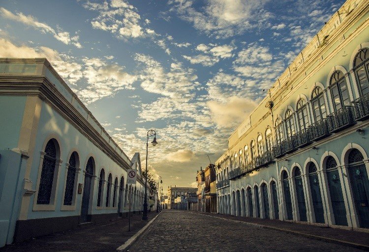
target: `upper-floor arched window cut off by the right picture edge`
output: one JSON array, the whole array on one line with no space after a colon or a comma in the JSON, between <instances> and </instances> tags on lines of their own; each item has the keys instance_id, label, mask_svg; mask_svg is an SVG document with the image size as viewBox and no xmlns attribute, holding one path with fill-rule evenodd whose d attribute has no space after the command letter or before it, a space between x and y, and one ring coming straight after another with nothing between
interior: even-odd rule
<instances>
[{"instance_id":1,"label":"upper-floor arched window cut off by the right picture edge","mask_svg":"<svg viewBox=\"0 0 369 252\"><path fill-rule=\"evenodd\" d=\"M361 49L354 59L355 77L358 82L360 95L369 93L369 49Z\"/></svg>"}]
</instances>

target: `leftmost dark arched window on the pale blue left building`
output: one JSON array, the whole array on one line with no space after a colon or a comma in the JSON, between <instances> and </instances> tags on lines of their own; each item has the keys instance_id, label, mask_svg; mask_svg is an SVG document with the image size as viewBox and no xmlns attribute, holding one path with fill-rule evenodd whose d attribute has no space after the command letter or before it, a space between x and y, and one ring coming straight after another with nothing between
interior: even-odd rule
<instances>
[{"instance_id":1,"label":"leftmost dark arched window on the pale blue left building","mask_svg":"<svg viewBox=\"0 0 369 252\"><path fill-rule=\"evenodd\" d=\"M56 156L57 149L54 144L54 140L51 139L46 144L45 154L43 156L41 178L37 194L37 204L50 204L51 192L53 190Z\"/></svg>"}]
</instances>

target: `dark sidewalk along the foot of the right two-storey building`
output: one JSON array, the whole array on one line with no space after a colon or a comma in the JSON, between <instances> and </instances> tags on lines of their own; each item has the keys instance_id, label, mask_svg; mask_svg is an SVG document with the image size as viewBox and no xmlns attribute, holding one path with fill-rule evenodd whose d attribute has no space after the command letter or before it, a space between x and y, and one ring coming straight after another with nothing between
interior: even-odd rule
<instances>
[{"instance_id":1,"label":"dark sidewalk along the foot of the right two-storey building","mask_svg":"<svg viewBox=\"0 0 369 252\"><path fill-rule=\"evenodd\" d=\"M327 242L340 243L350 247L363 250L369 250L369 233L340 228L331 228L326 226L316 226L309 224L301 224L296 222L281 221L276 219L262 219L244 216L230 216L221 214L209 214L201 212L192 212L200 215L208 215L225 219L242 221L265 228L288 232L292 234L302 235L313 239L324 240Z\"/></svg>"}]
</instances>

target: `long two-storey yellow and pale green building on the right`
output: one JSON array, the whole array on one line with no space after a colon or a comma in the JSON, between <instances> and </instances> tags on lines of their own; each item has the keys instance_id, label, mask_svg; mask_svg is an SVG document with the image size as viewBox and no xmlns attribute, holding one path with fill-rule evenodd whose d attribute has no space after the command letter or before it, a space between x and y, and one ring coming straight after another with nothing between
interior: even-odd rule
<instances>
[{"instance_id":1,"label":"long two-storey yellow and pale green building on the right","mask_svg":"<svg viewBox=\"0 0 369 252\"><path fill-rule=\"evenodd\" d=\"M369 227L368 10L347 0L229 137L220 213Z\"/></svg>"}]
</instances>

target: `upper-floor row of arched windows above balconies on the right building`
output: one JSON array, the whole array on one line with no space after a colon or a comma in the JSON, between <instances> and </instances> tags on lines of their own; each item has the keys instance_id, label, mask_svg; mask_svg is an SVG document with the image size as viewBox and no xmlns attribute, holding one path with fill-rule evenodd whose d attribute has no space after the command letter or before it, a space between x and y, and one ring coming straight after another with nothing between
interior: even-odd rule
<instances>
[{"instance_id":1,"label":"upper-floor row of arched windows above balconies on the right building","mask_svg":"<svg viewBox=\"0 0 369 252\"><path fill-rule=\"evenodd\" d=\"M353 53L350 60L352 69L352 84L357 98L369 95L369 43L360 45L360 49ZM290 139L296 133L305 131L310 125L327 118L332 112L350 109L354 101L349 74L342 66L335 66L327 77L326 87L314 83L310 97L301 94L296 101L295 108L287 106L283 116L277 114L274 121L275 144ZM256 141L252 139L249 144L235 151L230 157L230 169L245 166L256 156L273 148L272 129L268 126L264 132L258 133ZM221 176L221 175L220 175ZM225 179L224 177L219 180Z\"/></svg>"}]
</instances>

